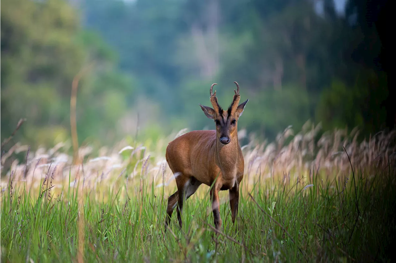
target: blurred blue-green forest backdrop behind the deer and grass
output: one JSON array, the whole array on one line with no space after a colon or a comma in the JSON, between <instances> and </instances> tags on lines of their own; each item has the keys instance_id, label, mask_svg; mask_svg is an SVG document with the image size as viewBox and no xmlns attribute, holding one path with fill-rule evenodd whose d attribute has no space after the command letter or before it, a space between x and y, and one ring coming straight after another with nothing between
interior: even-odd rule
<instances>
[{"instance_id":1,"label":"blurred blue-green forest backdrop behind the deer and grass","mask_svg":"<svg viewBox=\"0 0 396 263\"><path fill-rule=\"evenodd\" d=\"M385 1L0 0L0 141L79 145L213 129L198 103L227 107L238 128L273 140L310 119L324 131L394 125ZM388 8L389 9L389 8ZM82 72L82 73L81 73Z\"/></svg>"}]
</instances>

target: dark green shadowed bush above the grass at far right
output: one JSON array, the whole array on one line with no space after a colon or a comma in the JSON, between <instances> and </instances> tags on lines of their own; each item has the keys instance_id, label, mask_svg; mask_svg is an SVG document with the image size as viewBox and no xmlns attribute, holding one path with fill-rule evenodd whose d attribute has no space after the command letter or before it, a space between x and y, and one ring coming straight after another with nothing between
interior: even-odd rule
<instances>
[{"instance_id":1,"label":"dark green shadowed bush above the grass at far right","mask_svg":"<svg viewBox=\"0 0 396 263\"><path fill-rule=\"evenodd\" d=\"M316 118L323 122L324 129L357 126L364 134L383 129L386 84L385 74L372 70L362 70L352 87L333 81L321 94Z\"/></svg>"}]
</instances>

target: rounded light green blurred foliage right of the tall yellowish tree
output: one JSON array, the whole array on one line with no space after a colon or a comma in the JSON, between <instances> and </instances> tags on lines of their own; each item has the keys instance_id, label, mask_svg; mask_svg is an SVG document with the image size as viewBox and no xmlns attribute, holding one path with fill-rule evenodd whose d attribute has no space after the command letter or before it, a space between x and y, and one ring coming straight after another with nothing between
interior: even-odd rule
<instances>
[{"instance_id":1,"label":"rounded light green blurred foliage right of the tall yellowish tree","mask_svg":"<svg viewBox=\"0 0 396 263\"><path fill-rule=\"evenodd\" d=\"M114 142L116 127L132 100L133 81L114 66L96 69L77 97L77 128L80 141Z\"/></svg>"}]
</instances>

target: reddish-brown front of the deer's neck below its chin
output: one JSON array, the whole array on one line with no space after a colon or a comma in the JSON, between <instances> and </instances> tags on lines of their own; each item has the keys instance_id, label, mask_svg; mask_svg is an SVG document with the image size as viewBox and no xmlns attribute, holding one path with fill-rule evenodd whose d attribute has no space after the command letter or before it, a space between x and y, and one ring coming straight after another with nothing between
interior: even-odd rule
<instances>
[{"instance_id":1,"label":"reddish-brown front of the deer's neck below its chin","mask_svg":"<svg viewBox=\"0 0 396 263\"><path fill-rule=\"evenodd\" d=\"M232 137L229 144L222 144L217 138L217 161L223 172L228 173L235 169L239 156L239 147L238 135Z\"/></svg>"}]
</instances>

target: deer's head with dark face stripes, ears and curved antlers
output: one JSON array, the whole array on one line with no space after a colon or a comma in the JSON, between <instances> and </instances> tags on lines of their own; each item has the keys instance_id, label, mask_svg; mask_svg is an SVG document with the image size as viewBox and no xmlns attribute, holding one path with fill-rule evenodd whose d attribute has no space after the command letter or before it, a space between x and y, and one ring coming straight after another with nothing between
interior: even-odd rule
<instances>
[{"instance_id":1,"label":"deer's head with dark face stripes, ears and curved antlers","mask_svg":"<svg viewBox=\"0 0 396 263\"><path fill-rule=\"evenodd\" d=\"M229 144L233 138L238 138L238 119L244 112L246 103L249 101L247 99L238 105L240 100L239 85L236 81L234 83L236 84L236 90L234 90L234 98L228 110L225 111L220 107L219 102L217 102L216 91L213 93L213 86L217 85L217 83L213 83L210 87L210 102L213 108L199 104L206 117L215 121L217 138L222 144Z\"/></svg>"}]
</instances>

